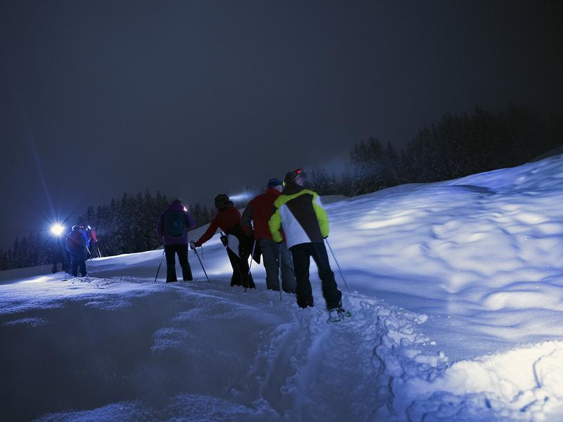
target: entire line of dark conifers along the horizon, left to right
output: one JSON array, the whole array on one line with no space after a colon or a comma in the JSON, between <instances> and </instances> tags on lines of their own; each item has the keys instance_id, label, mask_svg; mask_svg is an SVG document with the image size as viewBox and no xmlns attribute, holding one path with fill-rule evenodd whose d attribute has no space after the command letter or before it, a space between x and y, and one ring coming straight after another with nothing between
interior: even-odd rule
<instances>
[{"instance_id":1,"label":"entire line of dark conifers along the horizon, left to right","mask_svg":"<svg viewBox=\"0 0 563 422\"><path fill-rule=\"evenodd\" d=\"M369 137L350 151L346 170L308 174L308 187L320 195L357 196L405 183L430 183L524 164L563 144L563 120L545 122L531 108L510 106L499 113L476 107L472 113L446 114L419 129L405 148ZM78 222L93 224L103 255L153 250L160 245L155 231L158 217L170 198L124 193L110 203L90 206ZM196 225L207 224L212 212L199 203L189 205ZM16 238L0 251L0 270L53 262L56 239L35 233Z\"/></svg>"}]
</instances>

